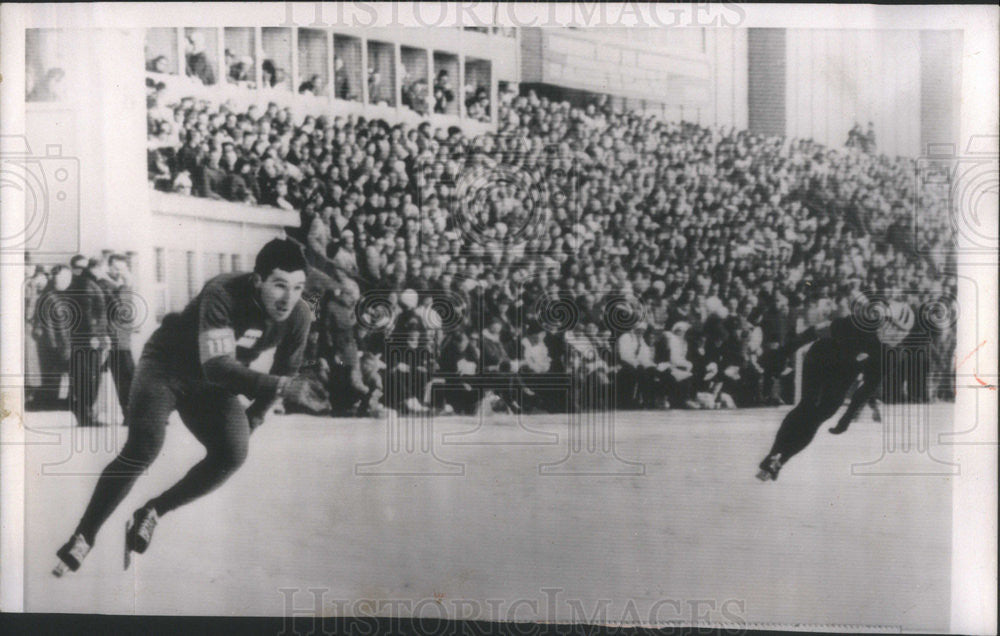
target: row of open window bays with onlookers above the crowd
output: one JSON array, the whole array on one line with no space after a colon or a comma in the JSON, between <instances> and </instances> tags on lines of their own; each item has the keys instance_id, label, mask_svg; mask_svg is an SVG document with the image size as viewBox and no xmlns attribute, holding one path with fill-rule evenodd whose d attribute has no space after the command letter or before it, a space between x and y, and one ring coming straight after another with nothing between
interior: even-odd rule
<instances>
[{"instance_id":1,"label":"row of open window bays with onlookers above the crowd","mask_svg":"<svg viewBox=\"0 0 1000 636\"><path fill-rule=\"evenodd\" d=\"M470 97L489 95L493 80L489 60L287 27L147 29L146 70L455 115Z\"/></svg>"}]
</instances>

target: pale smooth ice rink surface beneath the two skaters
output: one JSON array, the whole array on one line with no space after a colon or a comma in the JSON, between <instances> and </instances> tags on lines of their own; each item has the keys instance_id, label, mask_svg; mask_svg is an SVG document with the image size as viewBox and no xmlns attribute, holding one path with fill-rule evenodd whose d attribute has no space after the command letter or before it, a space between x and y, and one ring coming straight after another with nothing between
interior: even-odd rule
<instances>
[{"instance_id":1,"label":"pale smooth ice rink surface beneath the two skaters","mask_svg":"<svg viewBox=\"0 0 1000 636\"><path fill-rule=\"evenodd\" d=\"M55 550L126 429L31 413L25 609L947 630L952 406L885 408L842 436L831 420L770 483L754 475L787 408L574 427L613 432L614 454L574 446L565 415L272 416L243 468L163 517L125 572L126 518L203 453L175 416L62 579Z\"/></svg>"}]
</instances>

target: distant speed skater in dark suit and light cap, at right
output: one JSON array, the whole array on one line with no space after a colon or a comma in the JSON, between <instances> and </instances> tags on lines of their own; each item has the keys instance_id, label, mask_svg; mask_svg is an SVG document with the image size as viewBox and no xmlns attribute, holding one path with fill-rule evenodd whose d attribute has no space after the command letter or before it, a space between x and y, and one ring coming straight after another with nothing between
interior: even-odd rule
<instances>
[{"instance_id":1,"label":"distant speed skater in dark suit and light cap, at right","mask_svg":"<svg viewBox=\"0 0 1000 636\"><path fill-rule=\"evenodd\" d=\"M781 467L809 445L823 422L833 417L861 375L861 385L851 396L847 411L831 433L847 430L858 411L880 386L882 351L894 347L913 326L913 311L901 302L891 302L878 329L864 328L852 317L830 323L829 335L816 340L806 353L802 367L802 398L785 416L774 444L760 463L757 479L775 480Z\"/></svg>"}]
</instances>

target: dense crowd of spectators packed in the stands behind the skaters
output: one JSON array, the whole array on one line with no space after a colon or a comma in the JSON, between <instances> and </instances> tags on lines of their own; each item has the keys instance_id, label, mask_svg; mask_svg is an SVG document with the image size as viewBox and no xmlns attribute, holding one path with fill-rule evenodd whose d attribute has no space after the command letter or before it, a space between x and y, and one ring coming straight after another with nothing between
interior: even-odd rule
<instances>
[{"instance_id":1,"label":"dense crowd of spectators packed in the stands behind the skaters","mask_svg":"<svg viewBox=\"0 0 1000 636\"><path fill-rule=\"evenodd\" d=\"M442 71L434 111L453 99ZM606 99L498 106L497 132L470 137L154 91L149 176L299 212L290 234L326 282L314 368L351 387L331 391L342 412L587 408L539 381L553 373L619 408L787 403L804 326L904 291L954 312L946 200L912 160ZM947 368L954 325L931 335Z\"/></svg>"}]
</instances>

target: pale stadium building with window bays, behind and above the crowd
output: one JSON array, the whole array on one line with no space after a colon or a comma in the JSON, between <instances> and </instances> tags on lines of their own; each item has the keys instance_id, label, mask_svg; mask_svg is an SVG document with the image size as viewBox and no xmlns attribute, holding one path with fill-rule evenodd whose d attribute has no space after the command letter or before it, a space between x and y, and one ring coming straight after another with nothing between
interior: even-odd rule
<instances>
[{"instance_id":1,"label":"pale stadium building with window bays, behind and above the crowd","mask_svg":"<svg viewBox=\"0 0 1000 636\"><path fill-rule=\"evenodd\" d=\"M872 122L880 151L906 156L956 138L959 32L247 26L255 11L219 26L85 32L28 25L27 152L52 173L42 194L53 195L38 198L28 216L76 228L38 231L42 225L29 220L41 248L35 261L127 252L159 318L211 276L247 269L266 238L298 224L294 211L148 187L143 101L151 91L161 103L274 103L298 117L427 120L467 135L497 126L497 108L474 115L466 108L467 93L485 90L493 105L507 91L574 103L605 96L615 108L668 121L830 147L843 145L854 124ZM426 96L441 73L455 93L444 112L406 99L414 85ZM53 78L60 88L46 93ZM893 90L881 90L886 82ZM70 176L57 197L62 182L51 177L60 162Z\"/></svg>"}]
</instances>

